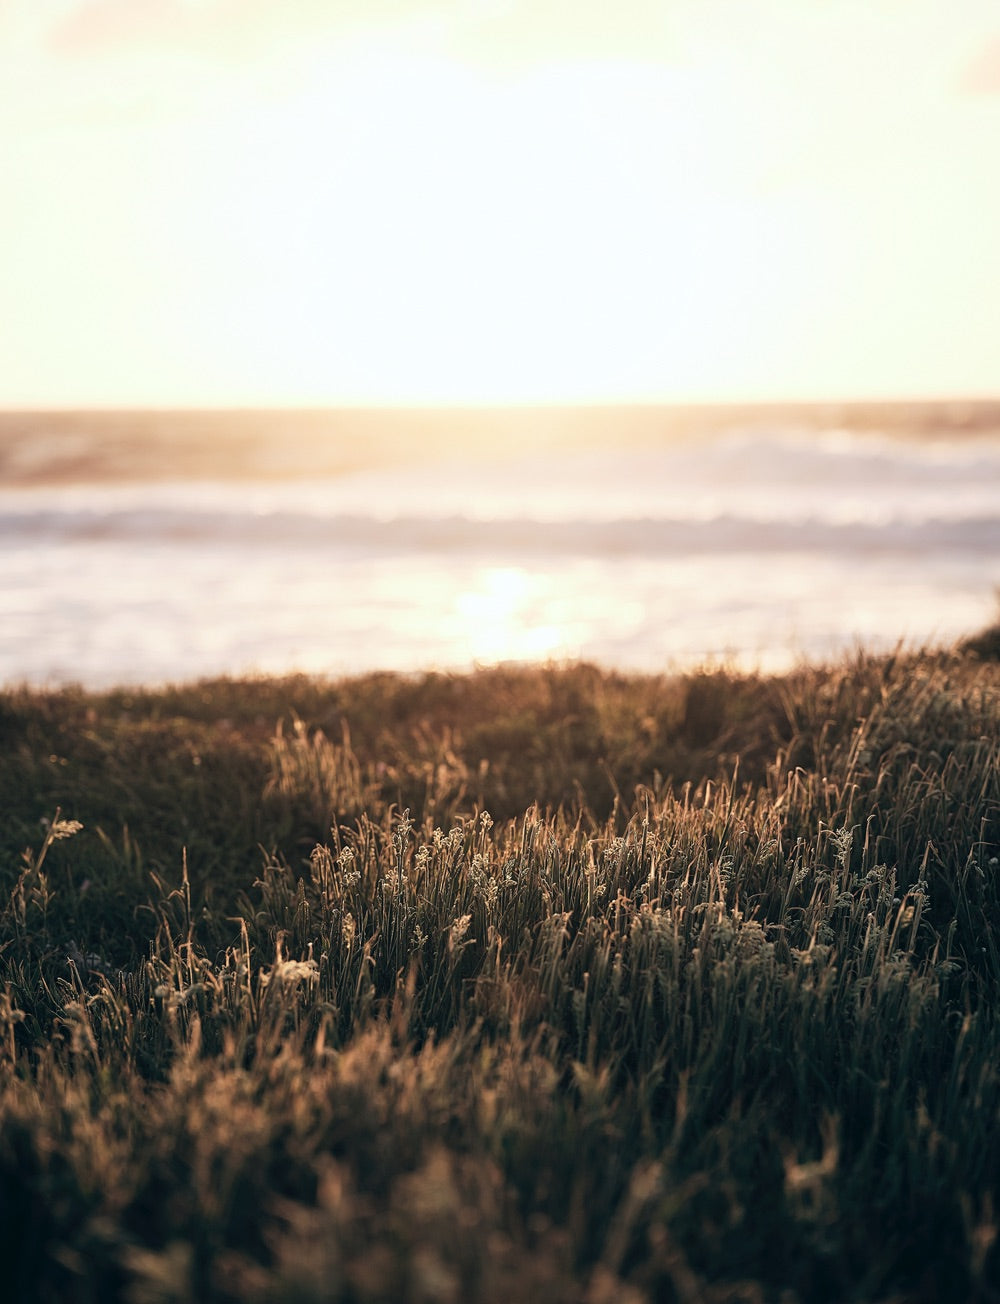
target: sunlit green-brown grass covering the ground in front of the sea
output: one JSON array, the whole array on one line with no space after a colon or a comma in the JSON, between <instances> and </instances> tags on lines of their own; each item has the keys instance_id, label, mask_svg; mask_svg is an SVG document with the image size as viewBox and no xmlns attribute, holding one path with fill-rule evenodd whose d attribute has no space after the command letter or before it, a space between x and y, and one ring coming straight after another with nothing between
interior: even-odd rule
<instances>
[{"instance_id":1,"label":"sunlit green-brown grass covering the ground in front of the sea","mask_svg":"<svg viewBox=\"0 0 1000 1304\"><path fill-rule=\"evenodd\" d=\"M5 1297L1000 1299L996 642L0 695Z\"/></svg>"}]
</instances>

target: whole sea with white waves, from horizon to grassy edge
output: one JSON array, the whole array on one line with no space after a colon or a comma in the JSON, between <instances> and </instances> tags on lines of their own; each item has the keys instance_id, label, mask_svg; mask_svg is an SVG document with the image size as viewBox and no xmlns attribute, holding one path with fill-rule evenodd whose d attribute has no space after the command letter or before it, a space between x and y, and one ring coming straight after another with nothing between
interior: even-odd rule
<instances>
[{"instance_id":1,"label":"whole sea with white waves, from horizon to grassy edge","mask_svg":"<svg viewBox=\"0 0 1000 1304\"><path fill-rule=\"evenodd\" d=\"M0 413L0 682L781 669L997 617L1000 407Z\"/></svg>"}]
</instances>

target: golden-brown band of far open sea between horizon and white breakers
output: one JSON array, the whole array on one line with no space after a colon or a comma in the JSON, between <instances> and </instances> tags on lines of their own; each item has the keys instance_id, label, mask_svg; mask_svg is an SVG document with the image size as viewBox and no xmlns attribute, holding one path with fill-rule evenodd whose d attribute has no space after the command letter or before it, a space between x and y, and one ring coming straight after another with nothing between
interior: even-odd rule
<instances>
[{"instance_id":1,"label":"golden-brown band of far open sea between horizon and white breakers","mask_svg":"<svg viewBox=\"0 0 1000 1304\"><path fill-rule=\"evenodd\" d=\"M635 406L0 411L0 485L295 480L533 450L662 447L741 426L1000 436L1000 399Z\"/></svg>"}]
</instances>

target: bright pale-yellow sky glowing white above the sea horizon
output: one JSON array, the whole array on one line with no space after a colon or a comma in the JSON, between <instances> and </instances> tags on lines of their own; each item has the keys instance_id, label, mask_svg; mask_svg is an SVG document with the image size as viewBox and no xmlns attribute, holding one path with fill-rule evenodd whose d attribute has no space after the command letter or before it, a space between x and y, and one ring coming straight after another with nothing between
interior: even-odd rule
<instances>
[{"instance_id":1,"label":"bright pale-yellow sky glowing white above the sea horizon","mask_svg":"<svg viewBox=\"0 0 1000 1304\"><path fill-rule=\"evenodd\" d=\"M996 0L0 0L0 406L1000 394Z\"/></svg>"}]
</instances>

